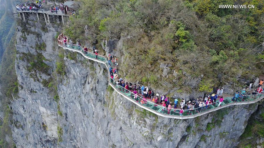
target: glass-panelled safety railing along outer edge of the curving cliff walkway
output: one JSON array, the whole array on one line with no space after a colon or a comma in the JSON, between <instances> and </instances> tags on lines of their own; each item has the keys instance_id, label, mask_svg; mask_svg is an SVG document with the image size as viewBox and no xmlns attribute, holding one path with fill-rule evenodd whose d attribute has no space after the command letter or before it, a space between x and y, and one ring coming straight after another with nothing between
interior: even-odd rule
<instances>
[{"instance_id":1,"label":"glass-panelled safety railing along outer edge of the curving cliff walkway","mask_svg":"<svg viewBox=\"0 0 264 148\"><path fill-rule=\"evenodd\" d=\"M82 53L82 55L84 57L87 57L91 60L94 61L100 61L100 63L104 63L106 68L109 71L109 63L106 59L106 57L104 56L100 56L100 55L96 55L94 53L88 52L88 51L84 51L84 49L76 44L70 44L70 43L64 43L62 41L63 38L63 33L60 34L58 36L58 45L60 47L63 47L64 49L70 49L72 51L77 51ZM112 64L112 63L111 63ZM109 75L109 73L108 73ZM114 90L118 91L120 94L122 94L123 96L129 98L130 101L133 101L133 103L137 104L138 106L144 106L144 108L147 108L149 111L162 116L164 115L171 115L171 116L195 116L199 113L204 113L204 112L211 112L211 110L217 110L217 108L219 108L219 104L221 104L221 108L223 108L223 106L230 106L230 105L237 105L237 104L245 104L245 102L248 102L248 104L251 103L255 103L255 100L260 100L263 99L263 95L264 94L255 94L255 95L243 95L243 96L239 96L239 97L226 97L224 98L224 100L220 103L220 100L216 100L215 102L202 106L202 107L197 107L195 109L174 109L174 108L166 108L165 106L161 106L159 104L155 104L153 101L151 101L150 99L146 99L144 97L140 97L137 95L137 97L135 97L136 94L134 94L133 92L131 92L131 90L127 90L126 88L118 85L118 83L116 82L116 80L112 79L109 76L109 83L111 83L111 86L114 88ZM142 101L143 100L143 101ZM183 113L180 113L180 111L182 110ZM172 118L171 116L167 116Z\"/></svg>"}]
</instances>

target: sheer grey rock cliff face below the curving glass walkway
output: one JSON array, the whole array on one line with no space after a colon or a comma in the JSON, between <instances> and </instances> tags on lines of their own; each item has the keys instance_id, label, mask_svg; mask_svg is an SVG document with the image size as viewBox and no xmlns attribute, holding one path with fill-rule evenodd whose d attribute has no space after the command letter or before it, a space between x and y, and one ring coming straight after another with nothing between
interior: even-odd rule
<instances>
[{"instance_id":1,"label":"sheer grey rock cliff face below the curving glass walkway","mask_svg":"<svg viewBox=\"0 0 264 148\"><path fill-rule=\"evenodd\" d=\"M36 23L33 15L27 14L25 26L17 26L20 87L11 103L17 147L235 147L258 107L236 105L188 120L157 116L108 87L103 64L74 52L60 55L54 40L60 26ZM38 48L43 42L45 50ZM44 67L26 56L41 57ZM56 70L59 58L65 75L58 74L58 66ZM59 99L51 93L54 80Z\"/></svg>"}]
</instances>

